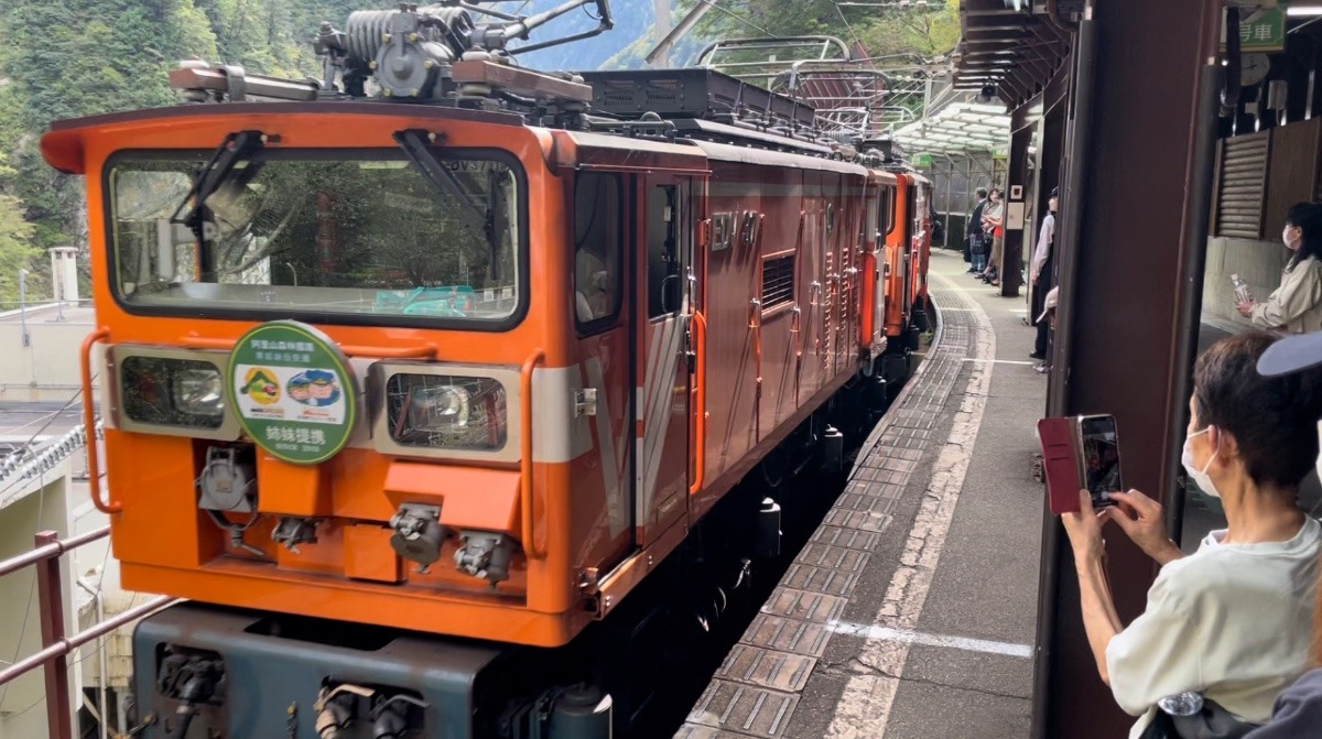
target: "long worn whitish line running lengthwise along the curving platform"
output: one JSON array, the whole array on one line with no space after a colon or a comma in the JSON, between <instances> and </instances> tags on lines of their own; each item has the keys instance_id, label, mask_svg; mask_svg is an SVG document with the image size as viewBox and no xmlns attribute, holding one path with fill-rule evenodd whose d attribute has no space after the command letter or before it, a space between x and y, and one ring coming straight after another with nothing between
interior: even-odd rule
<instances>
[{"instance_id":1,"label":"long worn whitish line running lengthwise along the curving platform","mask_svg":"<svg viewBox=\"0 0 1322 739\"><path fill-rule=\"evenodd\" d=\"M932 274L947 287L968 292L949 278ZM995 334L985 311L970 311L977 324L977 340L970 348L973 358L995 358ZM924 365L925 366L925 362ZM992 387L989 364L974 362L960 408L954 414L951 435L941 448L932 479L923 494L914 527L900 554L900 566L891 578L874 624L879 628L912 632L917 628L932 578L941 558L945 535L951 530L954 506L960 501L964 477L969 471L969 453L978 438L982 411ZM957 395L952 395L954 398ZM857 672L845 683L836 715L826 730L826 739L882 739L890 723L895 693L904 677L908 642L869 640L858 654ZM894 676L894 677L891 677Z\"/></svg>"}]
</instances>

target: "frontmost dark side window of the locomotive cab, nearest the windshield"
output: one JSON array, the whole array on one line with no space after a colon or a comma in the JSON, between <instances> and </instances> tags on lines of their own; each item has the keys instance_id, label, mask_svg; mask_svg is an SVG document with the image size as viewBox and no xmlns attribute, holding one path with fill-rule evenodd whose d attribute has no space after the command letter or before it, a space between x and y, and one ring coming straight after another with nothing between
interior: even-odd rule
<instances>
[{"instance_id":1,"label":"frontmost dark side window of the locomotive cab, nearest the windshield","mask_svg":"<svg viewBox=\"0 0 1322 739\"><path fill-rule=\"evenodd\" d=\"M580 327L605 328L620 311L620 177L582 173L574 192L574 301Z\"/></svg>"}]
</instances>

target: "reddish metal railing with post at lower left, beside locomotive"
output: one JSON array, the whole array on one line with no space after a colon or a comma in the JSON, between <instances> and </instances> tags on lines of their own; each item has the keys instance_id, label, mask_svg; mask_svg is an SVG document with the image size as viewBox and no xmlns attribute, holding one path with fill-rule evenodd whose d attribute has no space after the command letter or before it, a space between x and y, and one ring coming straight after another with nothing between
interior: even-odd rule
<instances>
[{"instance_id":1,"label":"reddish metal railing with post at lower left, beside locomotive","mask_svg":"<svg viewBox=\"0 0 1322 739\"><path fill-rule=\"evenodd\" d=\"M36 549L0 562L0 578L25 567L37 568L37 603L41 611L41 650L0 670L0 686L42 668L46 678L46 726L50 739L73 739L73 705L69 697L69 664L65 658L79 646L149 616L175 603L176 598L156 598L123 613L106 619L73 636L65 635L65 579L59 558L79 546L110 535L110 526L59 539L56 531L41 531ZM20 636L21 639L21 636ZM106 681L106 676L100 676ZM100 720L106 718L102 717Z\"/></svg>"}]
</instances>

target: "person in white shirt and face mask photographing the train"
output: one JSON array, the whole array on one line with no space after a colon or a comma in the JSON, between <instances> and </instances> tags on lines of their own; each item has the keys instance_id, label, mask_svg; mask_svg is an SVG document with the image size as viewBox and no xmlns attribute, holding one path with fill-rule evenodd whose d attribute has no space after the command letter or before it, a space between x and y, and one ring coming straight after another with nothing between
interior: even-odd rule
<instances>
[{"instance_id":1,"label":"person in white shirt and face mask photographing the train","mask_svg":"<svg viewBox=\"0 0 1322 739\"><path fill-rule=\"evenodd\" d=\"M1296 498L1318 456L1322 374L1260 375L1273 341L1264 332L1223 338L1194 369L1183 464L1222 500L1227 529L1186 557L1166 535L1161 505L1137 490L1110 493L1120 505L1100 512L1084 490L1080 513L1062 516L1097 669L1120 707L1140 717L1130 738L1158 718L1159 701L1186 691L1235 722L1263 724L1309 666L1322 526ZM1108 520L1162 564L1128 627L1107 584Z\"/></svg>"}]
</instances>

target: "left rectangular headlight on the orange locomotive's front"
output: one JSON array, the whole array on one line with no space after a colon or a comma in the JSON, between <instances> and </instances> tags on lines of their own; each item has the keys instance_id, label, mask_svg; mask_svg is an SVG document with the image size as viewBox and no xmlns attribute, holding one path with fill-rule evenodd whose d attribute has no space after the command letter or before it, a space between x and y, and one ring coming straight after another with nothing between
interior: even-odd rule
<instances>
[{"instance_id":1,"label":"left rectangular headlight on the orange locomotive's front","mask_svg":"<svg viewBox=\"0 0 1322 739\"><path fill-rule=\"evenodd\" d=\"M127 357L120 368L124 415L136 423L219 428L222 387L221 370L197 360Z\"/></svg>"}]
</instances>

